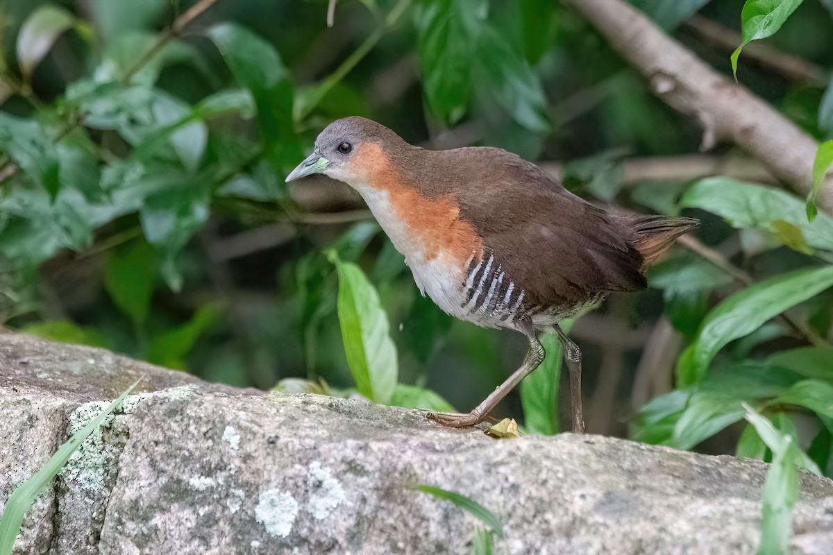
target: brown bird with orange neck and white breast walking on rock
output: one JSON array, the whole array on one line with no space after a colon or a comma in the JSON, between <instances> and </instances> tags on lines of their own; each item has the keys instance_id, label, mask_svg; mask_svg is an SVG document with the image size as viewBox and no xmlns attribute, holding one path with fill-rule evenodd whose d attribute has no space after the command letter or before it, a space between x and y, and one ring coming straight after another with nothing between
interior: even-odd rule
<instances>
[{"instance_id":1,"label":"brown bird with orange neck and white breast walking on rock","mask_svg":"<svg viewBox=\"0 0 833 555\"><path fill-rule=\"evenodd\" d=\"M581 349L559 322L606 295L645 289L646 268L699 221L608 211L550 174L491 146L428 150L359 116L333 121L287 183L312 174L356 190L422 295L460 320L524 334L521 367L469 413L431 412L471 427L544 360L556 333L570 374L572 431L585 431Z\"/></svg>"}]
</instances>

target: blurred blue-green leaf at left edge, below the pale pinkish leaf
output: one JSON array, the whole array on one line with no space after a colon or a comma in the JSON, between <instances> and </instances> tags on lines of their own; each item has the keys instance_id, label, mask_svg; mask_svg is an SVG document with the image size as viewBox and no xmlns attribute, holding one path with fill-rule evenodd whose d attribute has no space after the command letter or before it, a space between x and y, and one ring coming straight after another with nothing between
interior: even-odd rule
<instances>
[{"instance_id":1,"label":"blurred blue-green leaf at left edge, below the pale pinkish leaf","mask_svg":"<svg viewBox=\"0 0 833 555\"><path fill-rule=\"evenodd\" d=\"M0 112L0 152L11 156L32 181L54 199L60 186L57 151L37 121Z\"/></svg>"}]
</instances>

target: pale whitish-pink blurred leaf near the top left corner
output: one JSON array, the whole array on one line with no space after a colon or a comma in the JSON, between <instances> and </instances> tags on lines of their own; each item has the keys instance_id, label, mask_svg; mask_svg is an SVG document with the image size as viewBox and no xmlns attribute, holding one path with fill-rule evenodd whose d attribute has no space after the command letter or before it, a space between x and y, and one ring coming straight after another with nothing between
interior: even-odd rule
<instances>
[{"instance_id":1,"label":"pale whitish-pink blurred leaf near the top left corner","mask_svg":"<svg viewBox=\"0 0 833 555\"><path fill-rule=\"evenodd\" d=\"M17 66L23 79L32 78L37 64L64 31L75 25L76 19L66 8L45 4L32 10L17 34Z\"/></svg>"}]
</instances>

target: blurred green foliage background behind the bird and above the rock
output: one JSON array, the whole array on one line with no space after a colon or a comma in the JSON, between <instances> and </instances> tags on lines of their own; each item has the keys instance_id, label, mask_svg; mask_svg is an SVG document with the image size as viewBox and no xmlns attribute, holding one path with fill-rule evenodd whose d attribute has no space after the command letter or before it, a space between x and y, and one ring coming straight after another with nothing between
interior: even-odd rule
<instances>
[{"instance_id":1,"label":"blurred green foliage background behind the bird and above the rock","mask_svg":"<svg viewBox=\"0 0 833 555\"><path fill-rule=\"evenodd\" d=\"M742 1L633 3L731 74ZM696 122L576 12L342 0L327 27L323 0L193 6L0 4L0 324L228 384L351 394L332 249L354 305L379 296L398 366L383 379L415 386L377 400L471 409L525 339L423 299L346 187L283 182L327 123L367 116L423 146L515 151L599 204L701 218L649 290L573 325L588 431L770 458L743 401L831 475L833 220L808 222L731 145L700 153ZM833 136L831 24L830 2L804 2L738 72L819 140ZM496 415L564 429L557 359Z\"/></svg>"}]
</instances>

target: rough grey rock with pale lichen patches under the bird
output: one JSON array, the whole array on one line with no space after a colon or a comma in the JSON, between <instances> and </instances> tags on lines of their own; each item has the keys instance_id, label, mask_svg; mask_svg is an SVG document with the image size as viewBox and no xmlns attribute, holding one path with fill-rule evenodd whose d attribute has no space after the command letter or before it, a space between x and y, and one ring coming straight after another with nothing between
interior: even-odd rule
<instances>
[{"instance_id":1,"label":"rough grey rock with pale lichen patches under the bird","mask_svg":"<svg viewBox=\"0 0 833 555\"><path fill-rule=\"evenodd\" d=\"M26 364L26 361L27 364ZM257 394L0 334L0 508L75 429L144 374L27 515L15 553L755 553L767 465L623 439L496 440L419 411ZM833 482L801 475L792 553L830 553Z\"/></svg>"}]
</instances>

